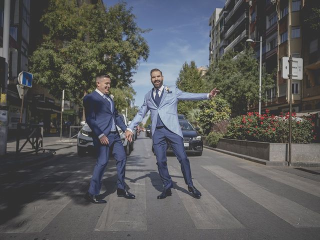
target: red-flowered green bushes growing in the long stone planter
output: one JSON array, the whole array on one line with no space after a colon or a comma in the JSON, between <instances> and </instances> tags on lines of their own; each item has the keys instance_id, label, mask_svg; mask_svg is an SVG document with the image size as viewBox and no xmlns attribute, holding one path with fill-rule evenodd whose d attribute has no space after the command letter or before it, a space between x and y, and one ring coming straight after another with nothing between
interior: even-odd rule
<instances>
[{"instance_id":1,"label":"red-flowered green bushes growing in the long stone planter","mask_svg":"<svg viewBox=\"0 0 320 240\"><path fill-rule=\"evenodd\" d=\"M289 114L270 115L268 111L259 115L248 112L230 120L225 137L263 142L288 142ZM314 122L309 117L295 117L292 113L292 143L309 143L315 139Z\"/></svg>"}]
</instances>

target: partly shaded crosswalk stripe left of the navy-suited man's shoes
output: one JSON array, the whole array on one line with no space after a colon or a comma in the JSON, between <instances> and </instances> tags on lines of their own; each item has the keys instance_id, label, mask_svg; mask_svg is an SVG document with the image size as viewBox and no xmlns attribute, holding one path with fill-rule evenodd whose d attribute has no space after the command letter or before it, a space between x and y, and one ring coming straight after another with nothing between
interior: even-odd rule
<instances>
[{"instance_id":1,"label":"partly shaded crosswalk stripe left of the navy-suited man's shoes","mask_svg":"<svg viewBox=\"0 0 320 240\"><path fill-rule=\"evenodd\" d=\"M82 181L79 181L81 179ZM1 233L40 232L87 185L89 176L76 171L46 194L30 202L0 226ZM65 193L67 192L67 193Z\"/></svg>"}]
</instances>

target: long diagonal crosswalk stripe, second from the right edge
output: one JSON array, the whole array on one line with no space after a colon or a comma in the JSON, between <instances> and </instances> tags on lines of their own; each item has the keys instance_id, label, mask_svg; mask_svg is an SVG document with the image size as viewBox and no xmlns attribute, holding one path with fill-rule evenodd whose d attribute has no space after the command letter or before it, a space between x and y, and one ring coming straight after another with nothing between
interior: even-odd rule
<instances>
[{"instance_id":1,"label":"long diagonal crosswalk stripe, second from the right edge","mask_svg":"<svg viewBox=\"0 0 320 240\"><path fill-rule=\"evenodd\" d=\"M295 227L320 227L320 214L220 166L202 166Z\"/></svg>"}]
</instances>

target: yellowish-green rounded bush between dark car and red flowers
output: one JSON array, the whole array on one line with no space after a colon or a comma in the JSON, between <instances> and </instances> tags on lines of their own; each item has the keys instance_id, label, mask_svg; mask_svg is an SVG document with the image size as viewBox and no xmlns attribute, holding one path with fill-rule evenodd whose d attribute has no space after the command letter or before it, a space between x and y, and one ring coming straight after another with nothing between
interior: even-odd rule
<instances>
[{"instance_id":1,"label":"yellowish-green rounded bush between dark car and red flowers","mask_svg":"<svg viewBox=\"0 0 320 240\"><path fill-rule=\"evenodd\" d=\"M204 134L209 133L215 123L226 120L231 115L231 109L226 100L213 97L199 104L199 124L204 129Z\"/></svg>"}]
</instances>

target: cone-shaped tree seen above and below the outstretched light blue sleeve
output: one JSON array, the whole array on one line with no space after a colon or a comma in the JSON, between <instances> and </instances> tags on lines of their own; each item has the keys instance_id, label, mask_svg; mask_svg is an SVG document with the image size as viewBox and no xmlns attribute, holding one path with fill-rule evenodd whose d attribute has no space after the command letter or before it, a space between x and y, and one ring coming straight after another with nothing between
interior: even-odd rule
<instances>
[{"instance_id":1,"label":"cone-shaped tree seen above and below the outstretched light blue sleeve","mask_svg":"<svg viewBox=\"0 0 320 240\"><path fill-rule=\"evenodd\" d=\"M190 64L183 63L176 80L176 86L180 90L187 92L199 93L205 91L201 73L198 71L194 61L190 61ZM177 110L179 113L186 115L190 109L197 108L197 104L198 102L196 101L179 101Z\"/></svg>"}]
</instances>

